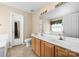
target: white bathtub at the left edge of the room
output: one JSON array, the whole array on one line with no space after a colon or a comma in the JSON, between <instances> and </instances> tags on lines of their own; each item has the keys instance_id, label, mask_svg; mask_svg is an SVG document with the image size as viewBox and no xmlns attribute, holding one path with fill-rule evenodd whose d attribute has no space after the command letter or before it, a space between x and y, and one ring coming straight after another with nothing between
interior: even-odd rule
<instances>
[{"instance_id":1,"label":"white bathtub at the left edge of the room","mask_svg":"<svg viewBox=\"0 0 79 59\"><path fill-rule=\"evenodd\" d=\"M0 34L0 57L5 57L9 46L8 34Z\"/></svg>"}]
</instances>

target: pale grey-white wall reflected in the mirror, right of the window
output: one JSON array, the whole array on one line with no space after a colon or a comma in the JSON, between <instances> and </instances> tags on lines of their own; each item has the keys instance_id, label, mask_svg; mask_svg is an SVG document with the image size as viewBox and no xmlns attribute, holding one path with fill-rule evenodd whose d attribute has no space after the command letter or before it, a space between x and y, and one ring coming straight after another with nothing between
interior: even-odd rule
<instances>
[{"instance_id":1,"label":"pale grey-white wall reflected in the mirror, right of the window","mask_svg":"<svg viewBox=\"0 0 79 59\"><path fill-rule=\"evenodd\" d=\"M63 17L64 35L79 38L79 13Z\"/></svg>"}]
</instances>

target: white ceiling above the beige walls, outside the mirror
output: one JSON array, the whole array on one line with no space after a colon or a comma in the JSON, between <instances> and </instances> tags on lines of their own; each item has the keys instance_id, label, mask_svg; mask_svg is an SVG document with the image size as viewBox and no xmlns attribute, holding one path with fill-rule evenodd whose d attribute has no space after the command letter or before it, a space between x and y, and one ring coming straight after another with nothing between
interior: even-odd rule
<instances>
[{"instance_id":1,"label":"white ceiling above the beige walls, outside the mirror","mask_svg":"<svg viewBox=\"0 0 79 59\"><path fill-rule=\"evenodd\" d=\"M32 13L45 3L46 2L3 2L2 4Z\"/></svg>"}]
</instances>

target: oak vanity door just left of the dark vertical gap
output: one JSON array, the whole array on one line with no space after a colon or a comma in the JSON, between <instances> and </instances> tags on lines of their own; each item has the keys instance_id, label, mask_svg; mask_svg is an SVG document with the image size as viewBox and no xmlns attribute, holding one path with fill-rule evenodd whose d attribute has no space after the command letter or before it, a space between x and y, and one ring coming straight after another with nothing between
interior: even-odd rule
<instances>
[{"instance_id":1,"label":"oak vanity door just left of the dark vertical gap","mask_svg":"<svg viewBox=\"0 0 79 59\"><path fill-rule=\"evenodd\" d=\"M50 43L45 42L45 57L54 56L54 46Z\"/></svg>"}]
</instances>

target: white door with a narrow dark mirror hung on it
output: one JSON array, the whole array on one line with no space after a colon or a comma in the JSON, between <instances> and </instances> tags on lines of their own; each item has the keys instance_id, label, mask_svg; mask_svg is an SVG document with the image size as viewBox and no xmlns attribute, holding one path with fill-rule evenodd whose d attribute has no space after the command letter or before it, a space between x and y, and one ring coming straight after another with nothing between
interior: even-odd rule
<instances>
[{"instance_id":1,"label":"white door with a narrow dark mirror hung on it","mask_svg":"<svg viewBox=\"0 0 79 59\"><path fill-rule=\"evenodd\" d=\"M23 16L11 13L10 25L11 46L23 44Z\"/></svg>"}]
</instances>

